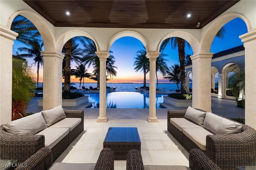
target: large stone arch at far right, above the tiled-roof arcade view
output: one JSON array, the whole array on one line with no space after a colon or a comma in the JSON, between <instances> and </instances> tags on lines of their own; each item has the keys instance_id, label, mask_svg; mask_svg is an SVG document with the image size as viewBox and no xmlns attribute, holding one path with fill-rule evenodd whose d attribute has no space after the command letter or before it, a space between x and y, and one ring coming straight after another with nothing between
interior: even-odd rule
<instances>
[{"instance_id":1,"label":"large stone arch at far right, above the tiled-roof arcade view","mask_svg":"<svg viewBox=\"0 0 256 170\"><path fill-rule=\"evenodd\" d=\"M246 26L247 30L251 30L252 26L249 22L249 20L241 15L236 13L230 13L225 14L223 16L220 16L214 20L210 26L207 28L206 32L202 36L201 42L200 42L200 52L210 52L210 49L212 47L212 42L214 40L214 37L216 36L217 32L222 28L226 23L230 22L231 20L235 18L241 18Z\"/></svg>"}]
</instances>

